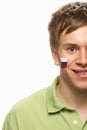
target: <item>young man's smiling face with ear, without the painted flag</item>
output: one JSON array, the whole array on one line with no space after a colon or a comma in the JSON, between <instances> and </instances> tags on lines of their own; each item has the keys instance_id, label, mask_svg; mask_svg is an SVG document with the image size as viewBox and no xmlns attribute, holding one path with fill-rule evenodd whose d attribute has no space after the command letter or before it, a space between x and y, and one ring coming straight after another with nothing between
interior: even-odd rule
<instances>
[{"instance_id":1,"label":"young man's smiling face with ear, without the painted flag","mask_svg":"<svg viewBox=\"0 0 87 130\"><path fill-rule=\"evenodd\" d=\"M58 54L52 53L56 65L61 64L61 57L68 60L67 67L60 68L61 83L77 90L87 90L87 26L69 34L64 31L60 37Z\"/></svg>"}]
</instances>

